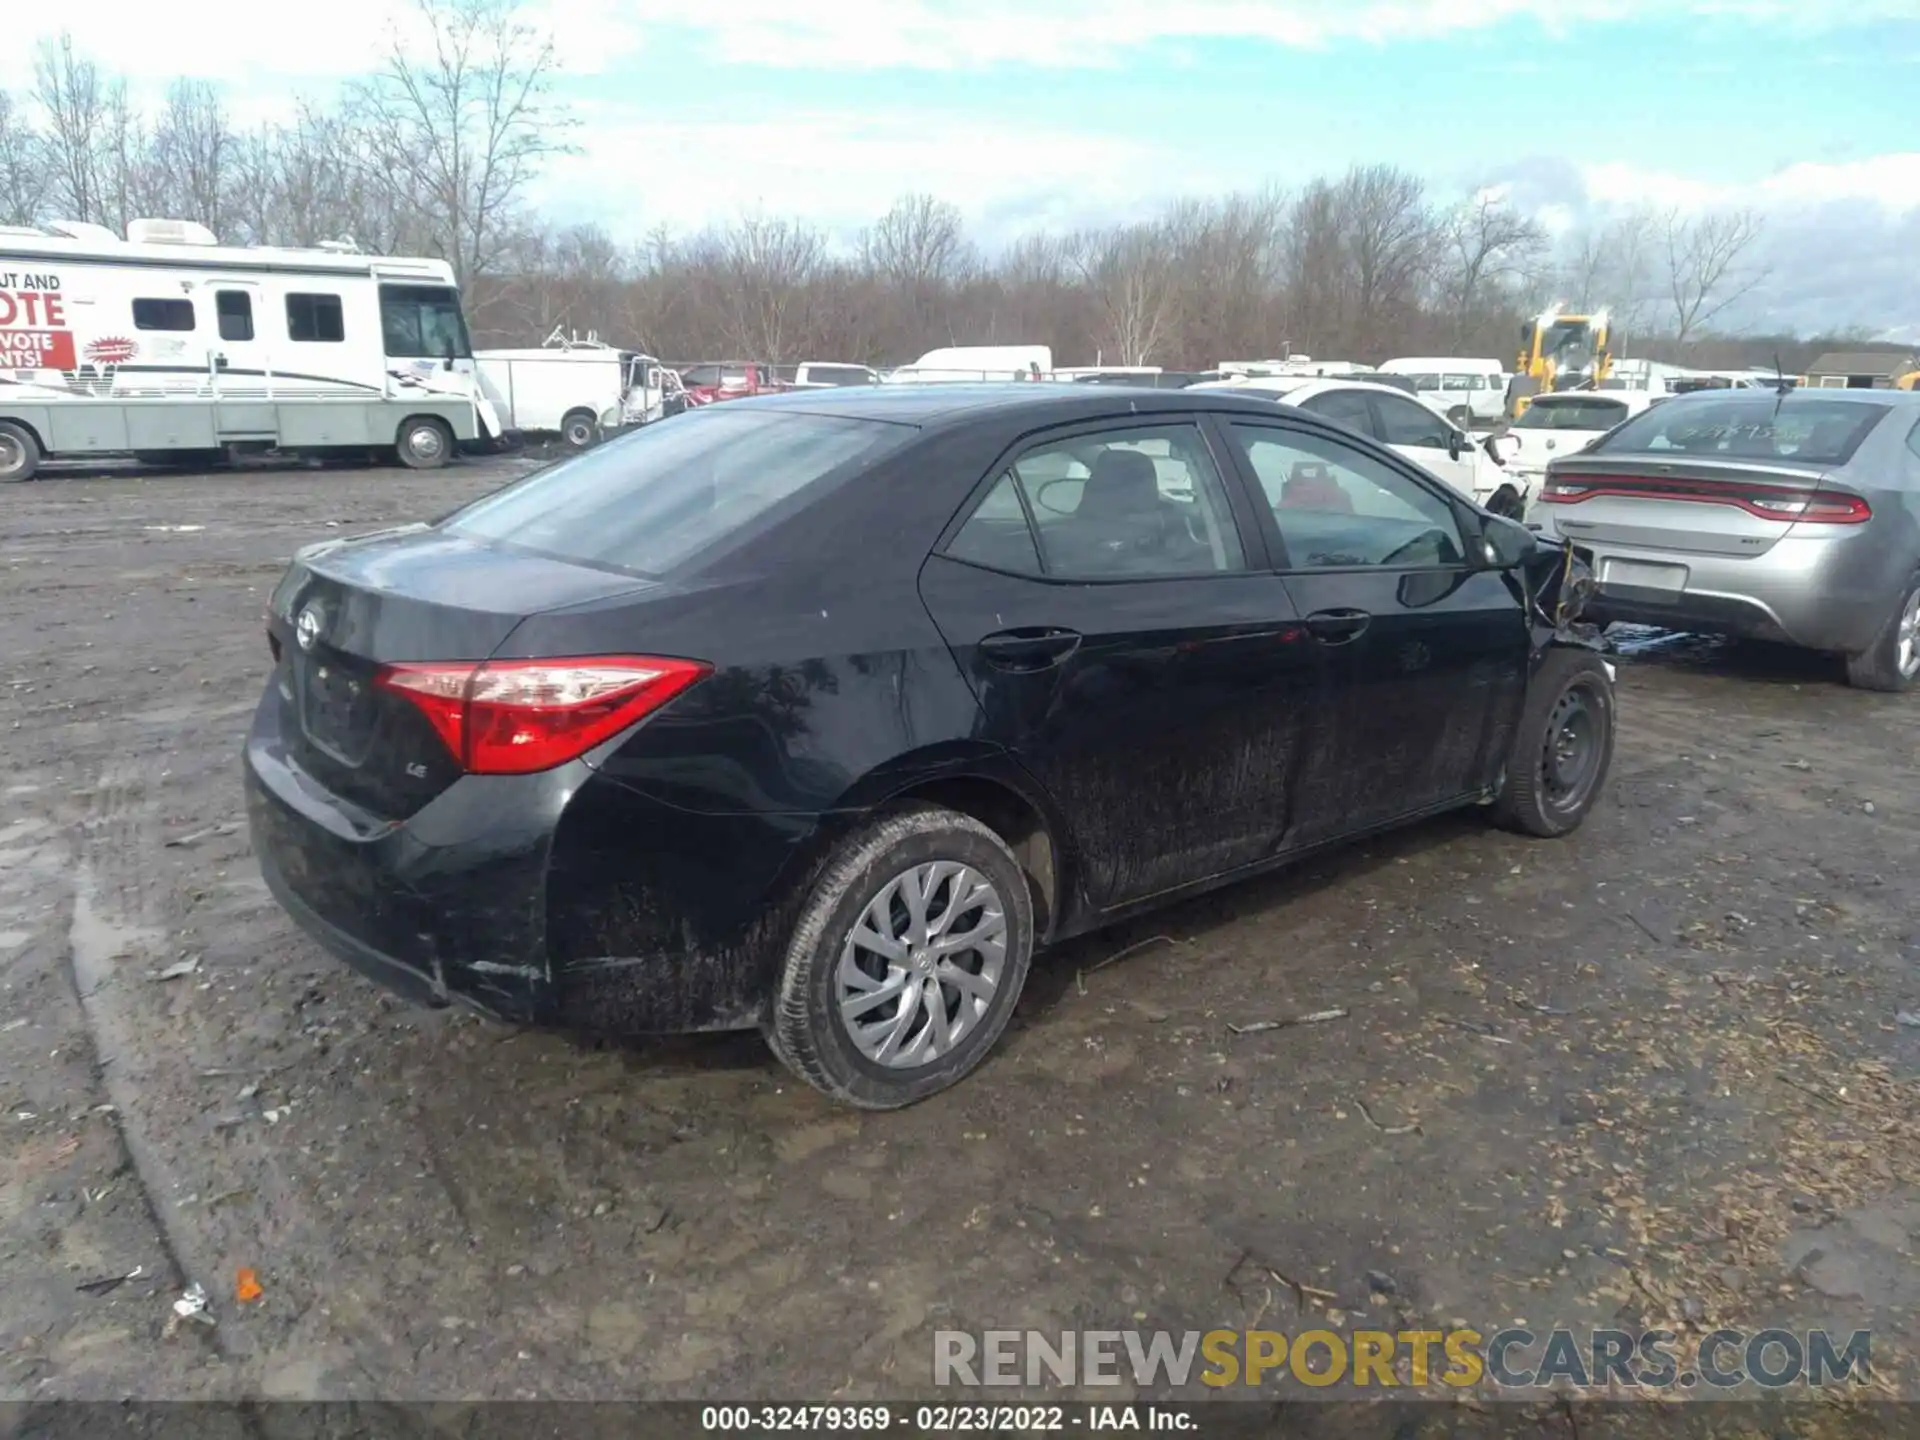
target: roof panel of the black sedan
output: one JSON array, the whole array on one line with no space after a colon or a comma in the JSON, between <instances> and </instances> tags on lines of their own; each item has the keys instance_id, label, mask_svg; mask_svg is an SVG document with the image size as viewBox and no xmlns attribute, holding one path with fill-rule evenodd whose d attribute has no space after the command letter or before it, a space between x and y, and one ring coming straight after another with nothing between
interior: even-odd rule
<instances>
[{"instance_id":1,"label":"roof panel of the black sedan","mask_svg":"<svg viewBox=\"0 0 1920 1440\"><path fill-rule=\"evenodd\" d=\"M760 409L891 420L895 424L941 424L968 417L1012 413L1020 413L1021 419L1031 417L1033 424L1050 424L1112 415L1127 401L1137 401L1142 409L1154 413L1219 409L1273 413L1273 397L1260 392L1236 396L1233 390L1156 390L1152 386L1117 384L1081 386L1058 380L854 386L837 392L803 390L783 396L756 396L726 403L728 407L756 405Z\"/></svg>"}]
</instances>

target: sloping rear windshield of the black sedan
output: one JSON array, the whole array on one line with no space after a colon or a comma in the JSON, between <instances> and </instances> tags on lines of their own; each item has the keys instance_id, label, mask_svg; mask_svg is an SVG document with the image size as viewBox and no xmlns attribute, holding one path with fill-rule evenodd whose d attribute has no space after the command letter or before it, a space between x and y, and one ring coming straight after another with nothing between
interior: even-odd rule
<instances>
[{"instance_id":1,"label":"sloping rear windshield of the black sedan","mask_svg":"<svg viewBox=\"0 0 1920 1440\"><path fill-rule=\"evenodd\" d=\"M908 424L718 405L643 426L455 511L459 536L666 574L818 499L916 436Z\"/></svg>"}]
</instances>

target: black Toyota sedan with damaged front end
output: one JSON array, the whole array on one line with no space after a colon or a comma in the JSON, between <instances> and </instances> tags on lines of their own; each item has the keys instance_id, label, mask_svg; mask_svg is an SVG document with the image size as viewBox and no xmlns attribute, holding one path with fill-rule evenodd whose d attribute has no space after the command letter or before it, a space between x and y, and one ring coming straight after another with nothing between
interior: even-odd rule
<instances>
[{"instance_id":1,"label":"black Toyota sedan with damaged front end","mask_svg":"<svg viewBox=\"0 0 1920 1440\"><path fill-rule=\"evenodd\" d=\"M760 1027L887 1108L1037 947L1613 753L1590 576L1221 392L881 386L645 426L301 551L246 743L288 912L426 1004Z\"/></svg>"}]
</instances>

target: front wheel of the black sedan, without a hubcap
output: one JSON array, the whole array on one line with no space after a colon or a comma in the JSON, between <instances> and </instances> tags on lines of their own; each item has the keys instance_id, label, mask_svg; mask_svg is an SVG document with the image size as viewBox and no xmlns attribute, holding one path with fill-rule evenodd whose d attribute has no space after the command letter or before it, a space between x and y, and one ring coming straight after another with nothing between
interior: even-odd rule
<instances>
[{"instance_id":1,"label":"front wheel of the black sedan, without a hubcap","mask_svg":"<svg viewBox=\"0 0 1920 1440\"><path fill-rule=\"evenodd\" d=\"M1613 764L1613 682L1584 649L1551 649L1526 687L1494 822L1559 839L1586 820Z\"/></svg>"}]
</instances>

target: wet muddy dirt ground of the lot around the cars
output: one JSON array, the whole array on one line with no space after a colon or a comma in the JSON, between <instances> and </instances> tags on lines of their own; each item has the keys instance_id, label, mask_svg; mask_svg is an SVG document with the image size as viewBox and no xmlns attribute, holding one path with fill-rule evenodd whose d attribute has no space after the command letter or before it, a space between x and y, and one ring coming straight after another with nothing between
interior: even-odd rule
<instances>
[{"instance_id":1,"label":"wet muddy dirt ground of the lot around the cars","mask_svg":"<svg viewBox=\"0 0 1920 1440\"><path fill-rule=\"evenodd\" d=\"M899 1398L937 1329L1302 1306L1872 1327L1916 1392L1920 697L1642 637L1576 837L1452 818L1075 943L972 1081L856 1116L756 1037L405 1008L261 887L286 557L515 472L0 492L0 1394Z\"/></svg>"}]
</instances>

